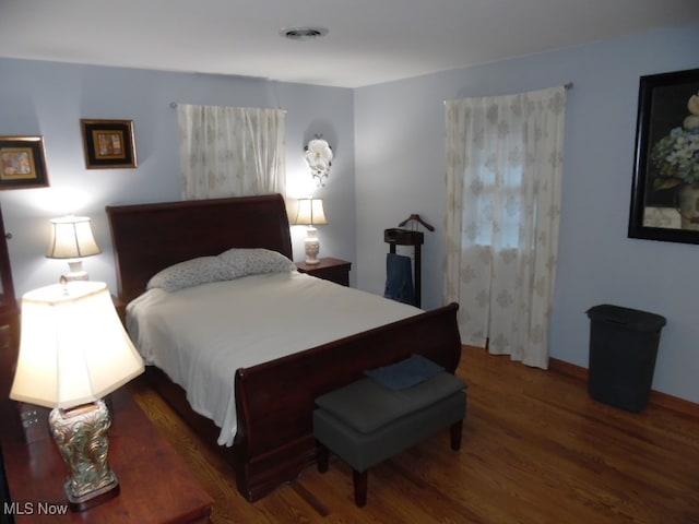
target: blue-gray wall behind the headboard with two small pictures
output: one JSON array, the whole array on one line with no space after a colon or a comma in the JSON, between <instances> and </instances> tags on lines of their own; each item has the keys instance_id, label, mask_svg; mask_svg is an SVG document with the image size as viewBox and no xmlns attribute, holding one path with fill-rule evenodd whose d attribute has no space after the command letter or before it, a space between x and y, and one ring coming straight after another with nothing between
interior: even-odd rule
<instances>
[{"instance_id":1,"label":"blue-gray wall behind the headboard with two small pictures","mask_svg":"<svg viewBox=\"0 0 699 524\"><path fill-rule=\"evenodd\" d=\"M325 200L321 253L354 260L354 98L352 90L234 76L0 59L0 135L44 135L49 188L0 191L17 296L54 283L67 265L45 258L48 219L92 217L104 253L85 259L91 278L116 290L107 204L180 200L177 111L170 103L281 107L286 110L289 196L307 196L304 145L322 133L335 151ZM81 118L132 119L138 169L85 169ZM313 184L310 189L315 189ZM291 206L289 206L291 209ZM304 228L292 228L304 259Z\"/></svg>"}]
</instances>

